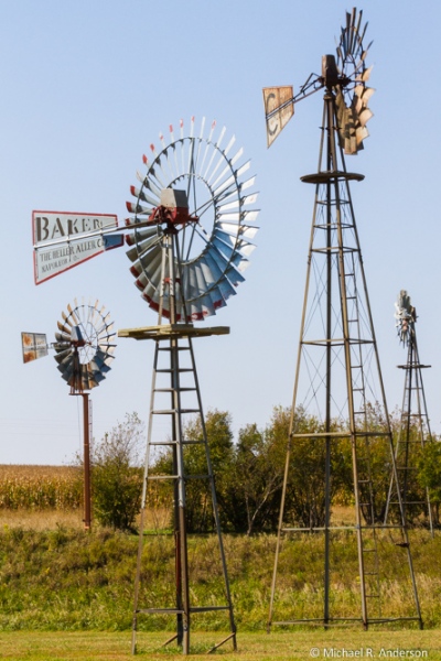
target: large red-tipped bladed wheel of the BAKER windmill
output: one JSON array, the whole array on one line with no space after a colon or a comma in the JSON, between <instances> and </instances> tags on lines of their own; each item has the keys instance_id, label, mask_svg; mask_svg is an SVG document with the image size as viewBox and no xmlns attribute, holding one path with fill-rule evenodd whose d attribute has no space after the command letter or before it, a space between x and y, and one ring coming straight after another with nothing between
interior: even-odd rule
<instances>
[{"instance_id":1,"label":"large red-tipped bladed wheel of the BAKER windmill","mask_svg":"<svg viewBox=\"0 0 441 661\"><path fill-rule=\"evenodd\" d=\"M152 160L143 156L147 173L137 173L141 186L131 186L136 202L127 203L128 210L135 215L127 224L143 224L126 238L131 246L127 252L133 262L130 270L142 297L166 317L170 316L170 296L161 282L165 226L158 209L168 205L168 198L175 201L174 273L181 299L176 307L178 318L184 321L215 314L236 293L235 288L244 281L241 273L249 263L247 258L255 248L249 240L257 231L248 225L258 213L249 208L257 198L256 193L248 192L255 177L244 180L250 161L237 166L244 150L234 150L230 156L235 137L227 141L223 128L214 140L216 122L207 136L204 128L205 120L195 136L192 118L189 134L184 133L182 120L179 138L173 127L170 127L169 143L160 134L160 151L150 145ZM180 199L183 207L187 206L181 219Z\"/></svg>"}]
</instances>

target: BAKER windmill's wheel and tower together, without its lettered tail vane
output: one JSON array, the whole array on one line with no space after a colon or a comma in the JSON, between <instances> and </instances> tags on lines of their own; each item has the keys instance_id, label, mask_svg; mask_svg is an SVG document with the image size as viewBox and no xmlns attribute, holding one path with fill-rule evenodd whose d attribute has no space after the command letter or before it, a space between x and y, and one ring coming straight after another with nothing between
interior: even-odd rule
<instances>
[{"instance_id":1,"label":"BAKER windmill's wheel and tower together, without its lettered tail vane","mask_svg":"<svg viewBox=\"0 0 441 661\"><path fill-rule=\"evenodd\" d=\"M151 161L143 156L147 171L138 173L140 186L131 187L135 202L127 203L132 214L126 221L132 230L126 237L129 245L127 254L132 262L130 270L142 297L158 313L155 326L118 333L119 337L149 338L155 345L135 585L133 653L137 650L138 620L142 615L175 617L176 633L168 642L176 640L183 653L187 654L193 616L222 610L228 615L230 632L213 649L230 639L236 649L236 625L193 339L229 332L223 326L196 327L194 322L216 314L244 281L243 272L254 249L250 240L257 231L250 225L257 216L257 210L252 209L257 194L250 192L255 177L244 176L250 162L239 164L243 149L233 149L235 137L227 140L225 128L215 138L216 122L206 131L205 120L202 120L196 132L192 118L190 131L184 132L182 121L179 131L175 137L173 127L170 127L168 141L161 133L159 151L151 145ZM189 416L198 421L198 441L186 437ZM168 434L161 426L164 420ZM197 475L187 467L189 453L195 445L200 445L205 455L205 468ZM151 474L151 454L158 448L168 449L172 456L170 474ZM141 595L142 550L148 543L143 534L148 488L155 480L170 484L173 492L174 598L165 605L155 604L154 595L149 595L148 590ZM223 575L220 604L193 603L186 489L195 480L206 484L212 500ZM141 607L142 598L147 607Z\"/></svg>"}]
</instances>

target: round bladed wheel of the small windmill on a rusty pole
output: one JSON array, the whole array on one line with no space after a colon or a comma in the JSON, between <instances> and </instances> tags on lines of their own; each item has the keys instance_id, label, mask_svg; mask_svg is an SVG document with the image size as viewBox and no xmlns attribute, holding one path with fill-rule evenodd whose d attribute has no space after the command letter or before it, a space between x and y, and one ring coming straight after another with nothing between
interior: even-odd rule
<instances>
[{"instance_id":1,"label":"round bladed wheel of the small windmill on a rusty pole","mask_svg":"<svg viewBox=\"0 0 441 661\"><path fill-rule=\"evenodd\" d=\"M105 307L78 304L67 305L57 322L54 345L62 377L73 393L92 390L106 378L114 359L115 337L110 313Z\"/></svg>"}]
</instances>

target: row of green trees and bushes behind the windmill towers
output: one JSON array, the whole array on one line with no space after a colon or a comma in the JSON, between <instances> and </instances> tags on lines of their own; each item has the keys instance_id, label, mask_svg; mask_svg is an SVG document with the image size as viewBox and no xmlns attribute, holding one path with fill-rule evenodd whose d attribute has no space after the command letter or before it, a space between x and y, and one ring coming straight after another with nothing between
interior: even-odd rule
<instances>
[{"instance_id":1,"label":"row of green trees and bushes behind the windmill towers","mask_svg":"<svg viewBox=\"0 0 441 661\"><path fill-rule=\"evenodd\" d=\"M232 431L232 416L227 411L208 411L205 429L215 475L217 506L225 532L275 532L278 528L281 490L283 484L290 410L273 409L271 420L259 429L251 423L240 429L237 440ZM381 432L385 421L379 408L368 407L366 420L369 430L369 481L361 480L362 513L367 522L381 522L385 517L390 487L390 449ZM396 444L400 433L401 415L390 415ZM298 434L320 434L323 423L305 413L302 408L294 414ZM354 502L353 448L347 436L347 423L334 421L331 441L330 497L332 507ZM338 437L338 433L342 434ZM378 435L376 435L378 433ZM184 446L184 472L187 476L206 474L203 429L194 419L184 429L184 436L193 443ZM421 505L429 494L432 520L440 527L441 505L441 443L438 437L419 442L420 429L412 422L409 429L406 518L410 525L427 525L427 509ZM105 438L96 444L92 454L94 516L105 525L135 530L141 503L144 425L137 413L126 415ZM365 462L363 448L359 462ZM291 443L289 479L284 518L302 528L322 527L325 523L325 443L323 437L297 437ZM363 458L364 457L364 458ZM171 475L172 452L165 452L150 463L149 473ZM169 508L172 525L172 480L149 480L147 506ZM364 490L366 492L364 492ZM369 491L369 492L367 492ZM208 480L186 480L186 517L189 532L209 532L214 529L213 506Z\"/></svg>"}]
</instances>

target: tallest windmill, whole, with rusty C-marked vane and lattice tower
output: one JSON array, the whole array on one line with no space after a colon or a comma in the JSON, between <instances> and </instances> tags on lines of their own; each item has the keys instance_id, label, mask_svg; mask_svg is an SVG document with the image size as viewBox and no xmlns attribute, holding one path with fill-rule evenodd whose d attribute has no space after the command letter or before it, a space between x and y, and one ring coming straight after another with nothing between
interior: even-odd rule
<instances>
[{"instance_id":1,"label":"tallest windmill, whole, with rusty C-marked vane and lattice tower","mask_svg":"<svg viewBox=\"0 0 441 661\"><path fill-rule=\"evenodd\" d=\"M314 212L306 271L291 421L283 477L277 550L268 629L275 625L311 624L331 626L338 622L373 622L396 619L415 620L422 626L415 582L412 559L406 528L404 503L398 492L394 523L384 523L386 497L381 496L384 467L374 466L374 453L385 456L391 483L398 484L391 429L370 304L367 293L361 245L355 223L349 183L363 175L348 172L345 155L357 154L368 136L366 123L372 117L368 101L373 89L367 86L370 68L366 66L369 45L365 45L367 23L363 12L346 13L336 57L324 55L320 75L311 74L299 94L292 87L263 89L267 143L272 144L294 113L295 104L321 90L323 121L319 169L302 176L315 187ZM315 420L315 427L301 427L299 411ZM320 494L310 495L308 516L300 517L289 500L290 474L294 451L306 445L306 456L320 457ZM335 505L336 466L346 453L352 462L354 508L349 520L338 520ZM306 458L304 459L308 464ZM318 470L315 473L318 473ZM308 479L304 476L304 479ZM381 484L383 484L381 483ZM387 483L388 484L388 483ZM315 510L313 509L315 506ZM319 597L309 600L308 572L293 597L276 599L279 561L289 540L306 534L322 534L323 583L314 588ZM361 615L354 616L335 590L340 579L333 543L345 535L345 545L357 557L353 585L359 586ZM315 539L315 538L314 538ZM409 616L406 608L390 613L385 605L385 566L381 551L391 540L398 554L396 566L406 571L409 582ZM301 572L300 572L301 574ZM295 578L297 583L299 582ZM344 590L343 590L344 592ZM292 604L293 602L293 604ZM386 609L385 609L386 607ZM281 613L278 619L276 610Z\"/></svg>"}]
</instances>

